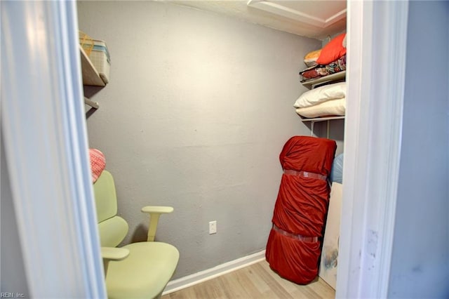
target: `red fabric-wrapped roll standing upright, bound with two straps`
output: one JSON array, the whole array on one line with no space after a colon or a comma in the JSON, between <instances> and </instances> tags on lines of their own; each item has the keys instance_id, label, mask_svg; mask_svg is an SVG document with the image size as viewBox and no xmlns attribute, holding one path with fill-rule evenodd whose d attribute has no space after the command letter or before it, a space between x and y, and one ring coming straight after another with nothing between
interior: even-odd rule
<instances>
[{"instance_id":1,"label":"red fabric-wrapped roll standing upright, bound with two straps","mask_svg":"<svg viewBox=\"0 0 449 299\"><path fill-rule=\"evenodd\" d=\"M336 148L334 140L294 136L279 155L283 175L265 258L272 270L297 284L318 274Z\"/></svg>"}]
</instances>

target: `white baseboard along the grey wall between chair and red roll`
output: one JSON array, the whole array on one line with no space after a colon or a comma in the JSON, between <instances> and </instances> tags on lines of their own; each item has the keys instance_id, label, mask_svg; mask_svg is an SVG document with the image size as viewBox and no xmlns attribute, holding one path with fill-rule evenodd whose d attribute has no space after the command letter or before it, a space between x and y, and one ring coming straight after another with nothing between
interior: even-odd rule
<instances>
[{"instance_id":1,"label":"white baseboard along the grey wall between chair and red roll","mask_svg":"<svg viewBox=\"0 0 449 299\"><path fill-rule=\"evenodd\" d=\"M207 281L209 279L219 277L220 275L227 274L235 270L239 270L249 265L253 265L264 259L265 259L265 251L263 250L257 253L253 253L251 255L244 256L243 258L238 258L236 260L232 260L230 262L217 265L208 270L203 270L195 274L187 275L186 277L181 277L179 279L169 281L162 295L173 293L175 291L180 291L182 290L182 288L194 286L195 284L199 284L203 281Z\"/></svg>"}]
</instances>

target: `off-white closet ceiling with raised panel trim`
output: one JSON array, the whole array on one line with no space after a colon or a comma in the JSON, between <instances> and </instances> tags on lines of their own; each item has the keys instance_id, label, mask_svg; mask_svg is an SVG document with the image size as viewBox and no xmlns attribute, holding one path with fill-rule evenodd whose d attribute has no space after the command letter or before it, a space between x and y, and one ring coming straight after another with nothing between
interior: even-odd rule
<instances>
[{"instance_id":1,"label":"off-white closet ceiling with raised panel trim","mask_svg":"<svg viewBox=\"0 0 449 299\"><path fill-rule=\"evenodd\" d=\"M346 0L162 0L314 39L346 29Z\"/></svg>"}]
</instances>

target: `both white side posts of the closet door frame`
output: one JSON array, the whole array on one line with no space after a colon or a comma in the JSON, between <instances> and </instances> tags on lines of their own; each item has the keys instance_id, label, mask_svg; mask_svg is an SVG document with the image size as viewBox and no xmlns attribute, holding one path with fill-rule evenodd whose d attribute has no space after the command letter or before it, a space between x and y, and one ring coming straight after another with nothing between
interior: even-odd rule
<instances>
[{"instance_id":1,"label":"both white side posts of the closet door frame","mask_svg":"<svg viewBox=\"0 0 449 299\"><path fill-rule=\"evenodd\" d=\"M337 298L387 296L407 11L349 1ZM30 295L104 298L75 3L2 1L1 27L1 130Z\"/></svg>"}]
</instances>

